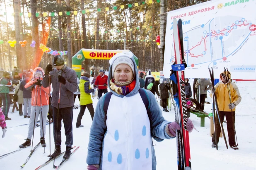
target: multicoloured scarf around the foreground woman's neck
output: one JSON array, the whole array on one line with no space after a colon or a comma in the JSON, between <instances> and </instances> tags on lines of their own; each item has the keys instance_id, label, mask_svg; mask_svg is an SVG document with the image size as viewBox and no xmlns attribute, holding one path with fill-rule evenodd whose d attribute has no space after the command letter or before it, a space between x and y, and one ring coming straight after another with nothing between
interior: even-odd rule
<instances>
[{"instance_id":1,"label":"multicoloured scarf around the foreground woman's neck","mask_svg":"<svg viewBox=\"0 0 256 170\"><path fill-rule=\"evenodd\" d=\"M133 80L132 83L130 83L129 85L119 86L119 85L116 85L116 82L113 78L110 80L111 90L113 90L117 94L121 94L121 95L124 95L124 96L126 96L131 91L133 91L133 89L135 87L135 84L136 84L136 81Z\"/></svg>"}]
</instances>

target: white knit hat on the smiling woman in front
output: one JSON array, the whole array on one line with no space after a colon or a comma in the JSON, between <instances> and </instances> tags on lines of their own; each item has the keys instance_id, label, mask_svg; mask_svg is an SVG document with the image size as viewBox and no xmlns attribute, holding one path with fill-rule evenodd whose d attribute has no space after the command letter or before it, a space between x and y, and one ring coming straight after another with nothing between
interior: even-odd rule
<instances>
[{"instance_id":1,"label":"white knit hat on the smiling woman in front","mask_svg":"<svg viewBox=\"0 0 256 170\"><path fill-rule=\"evenodd\" d=\"M127 53L127 52L126 52ZM130 52L131 53L131 52ZM116 59L113 61L113 64L112 64L112 76L114 76L114 72L116 70L116 67L119 65L119 64L127 64L128 66L130 66L130 68L132 69L133 71L133 75L135 76L135 71L134 71L134 64L133 64L133 61L131 60L130 57L127 57L127 56L122 56L123 53L119 53L119 57L117 56ZM118 54L116 54L118 55ZM115 56L116 56L115 55ZM114 57L115 57L114 56ZM114 59L114 57L112 59ZM131 56L133 57L133 56ZM110 61L109 61L110 62Z\"/></svg>"}]
</instances>

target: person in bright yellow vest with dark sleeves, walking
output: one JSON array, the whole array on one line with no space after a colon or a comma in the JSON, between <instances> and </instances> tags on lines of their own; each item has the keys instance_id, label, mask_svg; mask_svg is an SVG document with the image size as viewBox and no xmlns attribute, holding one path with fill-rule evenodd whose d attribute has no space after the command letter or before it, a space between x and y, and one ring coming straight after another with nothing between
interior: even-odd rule
<instances>
[{"instance_id":1,"label":"person in bright yellow vest with dark sleeves, walking","mask_svg":"<svg viewBox=\"0 0 256 170\"><path fill-rule=\"evenodd\" d=\"M83 76L80 77L80 112L77 116L77 123L76 127L83 127L84 125L81 124L82 117L84 116L86 107L88 108L90 115L93 119L94 116L94 109L92 106L92 97L91 94L94 92L94 89L90 87L90 74L84 73Z\"/></svg>"}]
</instances>

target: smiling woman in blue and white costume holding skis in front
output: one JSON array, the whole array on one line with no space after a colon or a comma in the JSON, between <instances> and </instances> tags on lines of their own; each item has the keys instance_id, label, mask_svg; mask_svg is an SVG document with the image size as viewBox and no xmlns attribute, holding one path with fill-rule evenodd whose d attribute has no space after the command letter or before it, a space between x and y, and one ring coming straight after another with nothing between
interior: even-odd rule
<instances>
[{"instance_id":1,"label":"smiling woman in blue and white costume holding skis in front","mask_svg":"<svg viewBox=\"0 0 256 170\"><path fill-rule=\"evenodd\" d=\"M113 94L106 118L106 94L97 103L89 135L87 170L156 170L152 137L158 142L173 139L180 126L165 120L154 94L141 89L150 103L150 121L138 92L140 82L132 52L118 53L109 63L108 86ZM191 120L187 130L193 130Z\"/></svg>"}]
</instances>

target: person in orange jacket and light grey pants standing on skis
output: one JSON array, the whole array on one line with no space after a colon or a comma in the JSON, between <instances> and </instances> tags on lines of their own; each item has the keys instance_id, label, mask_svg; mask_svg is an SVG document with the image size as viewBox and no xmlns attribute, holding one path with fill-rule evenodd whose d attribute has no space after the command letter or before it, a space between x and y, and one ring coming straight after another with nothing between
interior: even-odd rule
<instances>
[{"instance_id":1,"label":"person in orange jacket and light grey pants standing on skis","mask_svg":"<svg viewBox=\"0 0 256 170\"><path fill-rule=\"evenodd\" d=\"M49 110L49 88L43 87L44 71L41 67L34 69L33 79L25 85L27 90L31 89L31 117L29 120L29 132L26 142L19 145L20 148L30 146L33 130L36 127L37 119L40 113L40 142L46 147L44 136L46 134L46 118ZM41 114L42 113L42 114ZM43 119L42 119L43 118Z\"/></svg>"}]
</instances>

